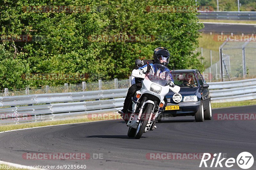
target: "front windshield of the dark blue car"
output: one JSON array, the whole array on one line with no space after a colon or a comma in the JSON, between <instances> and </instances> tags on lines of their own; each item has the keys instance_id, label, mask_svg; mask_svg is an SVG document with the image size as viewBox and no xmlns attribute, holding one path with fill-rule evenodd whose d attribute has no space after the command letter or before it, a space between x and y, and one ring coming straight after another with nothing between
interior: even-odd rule
<instances>
[{"instance_id":1,"label":"front windshield of the dark blue car","mask_svg":"<svg viewBox=\"0 0 256 170\"><path fill-rule=\"evenodd\" d=\"M176 72L174 71L172 73L174 84L178 85L180 87L198 87L197 81L196 81L196 75L194 72ZM178 79L178 77L182 75L183 80ZM180 76L180 77L182 77Z\"/></svg>"}]
</instances>

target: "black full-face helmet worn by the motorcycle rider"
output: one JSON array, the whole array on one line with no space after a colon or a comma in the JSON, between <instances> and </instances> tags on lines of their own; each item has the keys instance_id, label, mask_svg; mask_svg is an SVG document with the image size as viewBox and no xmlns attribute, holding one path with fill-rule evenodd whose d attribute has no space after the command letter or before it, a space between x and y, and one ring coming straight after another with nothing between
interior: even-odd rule
<instances>
[{"instance_id":1,"label":"black full-face helmet worn by the motorcycle rider","mask_svg":"<svg viewBox=\"0 0 256 170\"><path fill-rule=\"evenodd\" d=\"M170 53L168 49L164 47L158 47L154 50L153 58L155 59L155 63L167 66L170 60Z\"/></svg>"}]
</instances>

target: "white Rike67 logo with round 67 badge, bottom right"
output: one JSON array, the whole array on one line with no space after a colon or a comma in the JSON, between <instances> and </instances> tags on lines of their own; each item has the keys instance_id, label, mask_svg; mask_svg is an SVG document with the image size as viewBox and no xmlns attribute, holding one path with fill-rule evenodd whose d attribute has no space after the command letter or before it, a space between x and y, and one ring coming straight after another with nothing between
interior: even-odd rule
<instances>
[{"instance_id":1,"label":"white Rike67 logo with round 67 badge, bottom right","mask_svg":"<svg viewBox=\"0 0 256 170\"><path fill-rule=\"evenodd\" d=\"M217 158L218 157L218 158ZM223 167L222 163L230 168L232 166L234 166L235 163L237 163L237 165L242 168L242 169L248 169L250 167L252 167L254 159L251 153L249 152L241 152L237 158L222 158L221 157L221 153L219 153L219 155L217 156L217 153L213 154L213 158L211 158L211 154L210 153L204 153L203 158L201 159L200 165L199 167L202 167L202 165L204 164L204 167L208 167L206 161L212 159L211 165L210 167L213 167L214 165L214 161L217 158L216 162L215 162L215 166L214 167ZM226 161L224 161L225 159L227 159Z\"/></svg>"}]
</instances>

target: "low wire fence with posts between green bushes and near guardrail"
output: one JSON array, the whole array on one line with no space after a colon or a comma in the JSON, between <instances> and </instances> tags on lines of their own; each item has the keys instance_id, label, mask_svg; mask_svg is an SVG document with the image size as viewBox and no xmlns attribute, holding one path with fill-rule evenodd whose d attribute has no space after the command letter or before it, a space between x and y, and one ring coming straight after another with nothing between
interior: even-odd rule
<instances>
[{"instance_id":1,"label":"low wire fence with posts between green bushes and near guardrail","mask_svg":"<svg viewBox=\"0 0 256 170\"><path fill-rule=\"evenodd\" d=\"M98 82L82 82L82 84L68 84L65 83L62 86L44 86L42 88L31 89L29 87L24 89L9 90L5 88L0 91L0 96L17 96L17 95L29 95L29 94L44 94L44 93L61 93L61 92L82 92L82 91L94 91L94 90L107 90L118 88L129 88L131 85L130 79L102 81Z\"/></svg>"}]
</instances>

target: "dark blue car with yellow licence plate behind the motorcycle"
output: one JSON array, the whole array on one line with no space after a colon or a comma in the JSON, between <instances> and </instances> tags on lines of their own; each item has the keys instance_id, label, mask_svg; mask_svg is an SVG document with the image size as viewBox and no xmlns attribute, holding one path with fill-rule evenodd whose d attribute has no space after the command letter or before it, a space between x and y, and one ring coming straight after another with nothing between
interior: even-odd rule
<instances>
[{"instance_id":1,"label":"dark blue car with yellow licence plate behind the motorcycle","mask_svg":"<svg viewBox=\"0 0 256 170\"><path fill-rule=\"evenodd\" d=\"M195 116L196 122L212 119L209 85L198 70L174 70L174 84L180 86L180 92L169 91L165 111L158 121L166 117Z\"/></svg>"}]
</instances>

